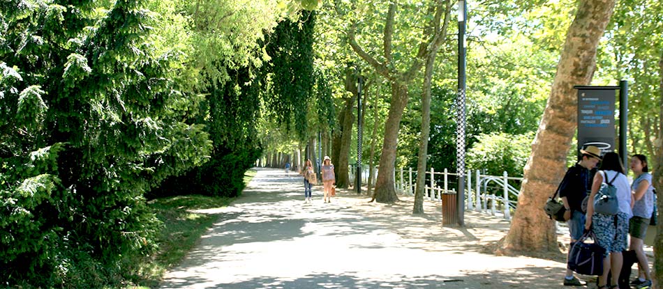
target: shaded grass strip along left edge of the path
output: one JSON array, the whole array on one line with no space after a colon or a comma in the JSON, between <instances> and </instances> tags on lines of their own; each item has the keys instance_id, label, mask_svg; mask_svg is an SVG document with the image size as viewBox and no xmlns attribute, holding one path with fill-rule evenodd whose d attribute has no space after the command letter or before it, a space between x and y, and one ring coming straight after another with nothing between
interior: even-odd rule
<instances>
[{"instance_id":1,"label":"shaded grass strip along left edge of the path","mask_svg":"<svg viewBox=\"0 0 663 289\"><path fill-rule=\"evenodd\" d=\"M244 183L248 184L255 176L255 170L246 171ZM171 196L156 198L148 205L156 217L163 222L158 237L159 251L156 256L142 264L144 280L131 289L157 288L163 274L177 266L191 251L203 233L210 228L220 214L191 212L191 210L223 208L234 200L218 196Z\"/></svg>"}]
</instances>

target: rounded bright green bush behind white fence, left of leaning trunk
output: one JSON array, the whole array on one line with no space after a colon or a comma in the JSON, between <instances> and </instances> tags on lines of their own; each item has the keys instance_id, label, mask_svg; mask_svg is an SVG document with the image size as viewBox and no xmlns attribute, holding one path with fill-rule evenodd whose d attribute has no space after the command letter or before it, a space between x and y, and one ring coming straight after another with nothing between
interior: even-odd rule
<instances>
[{"instance_id":1,"label":"rounded bright green bush behind white fence, left of leaning trunk","mask_svg":"<svg viewBox=\"0 0 663 289\"><path fill-rule=\"evenodd\" d=\"M468 167L485 169L487 175L523 175L523 168L532 152L533 133L479 134L477 142L468 150Z\"/></svg>"}]
</instances>

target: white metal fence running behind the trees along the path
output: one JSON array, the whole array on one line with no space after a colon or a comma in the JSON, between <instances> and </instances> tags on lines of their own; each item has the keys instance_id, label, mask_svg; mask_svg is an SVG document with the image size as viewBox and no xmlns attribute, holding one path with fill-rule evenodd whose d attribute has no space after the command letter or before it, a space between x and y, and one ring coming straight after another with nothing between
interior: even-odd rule
<instances>
[{"instance_id":1,"label":"white metal fence running behind the trees along the path","mask_svg":"<svg viewBox=\"0 0 663 289\"><path fill-rule=\"evenodd\" d=\"M350 167L350 182L355 183L355 168ZM377 176L378 170L375 170ZM456 194L456 182L449 177L456 178L458 173L450 173L447 169L442 172L426 171L426 186L424 198L429 201L441 201L442 194ZM414 195L417 171L412 168L398 168L394 171L395 189L400 194ZM479 170L468 170L465 174L465 209L477 212L486 212L493 216L502 215L504 219L511 220L511 214L516 209L519 189L509 184L509 181L522 183L523 178L509 177L505 171L501 176L482 175ZM368 183L368 168L362 171L362 183ZM510 198L509 198L510 196Z\"/></svg>"}]
</instances>

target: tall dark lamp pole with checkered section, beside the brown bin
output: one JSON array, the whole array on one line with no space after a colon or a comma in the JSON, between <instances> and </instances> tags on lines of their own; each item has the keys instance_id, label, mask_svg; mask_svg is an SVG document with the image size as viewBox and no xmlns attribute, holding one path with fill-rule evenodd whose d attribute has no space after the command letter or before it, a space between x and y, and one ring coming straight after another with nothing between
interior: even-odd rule
<instances>
[{"instance_id":1,"label":"tall dark lamp pole with checkered section, beside the brown bin","mask_svg":"<svg viewBox=\"0 0 663 289\"><path fill-rule=\"evenodd\" d=\"M465 226L465 24L467 3L458 1L458 109L456 120L456 162L458 162L458 194L456 212L459 226Z\"/></svg>"}]
</instances>

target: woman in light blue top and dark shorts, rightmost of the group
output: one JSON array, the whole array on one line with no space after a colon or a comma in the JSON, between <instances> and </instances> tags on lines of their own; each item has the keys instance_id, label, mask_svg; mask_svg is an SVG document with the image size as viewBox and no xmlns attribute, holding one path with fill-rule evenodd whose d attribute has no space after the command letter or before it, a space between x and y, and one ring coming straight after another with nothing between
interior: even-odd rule
<instances>
[{"instance_id":1,"label":"woman in light blue top and dark shorts, rightmost of the group","mask_svg":"<svg viewBox=\"0 0 663 289\"><path fill-rule=\"evenodd\" d=\"M647 166L647 157L644 155L633 155L631 158L631 170L636 178L631 184L633 194L633 217L629 223L629 234L631 244L629 249L635 251L638 258L638 278L631 281L631 286L643 288L652 285L649 272L647 256L643 248L647 227L654 211L654 187L652 186L652 175Z\"/></svg>"}]
</instances>

